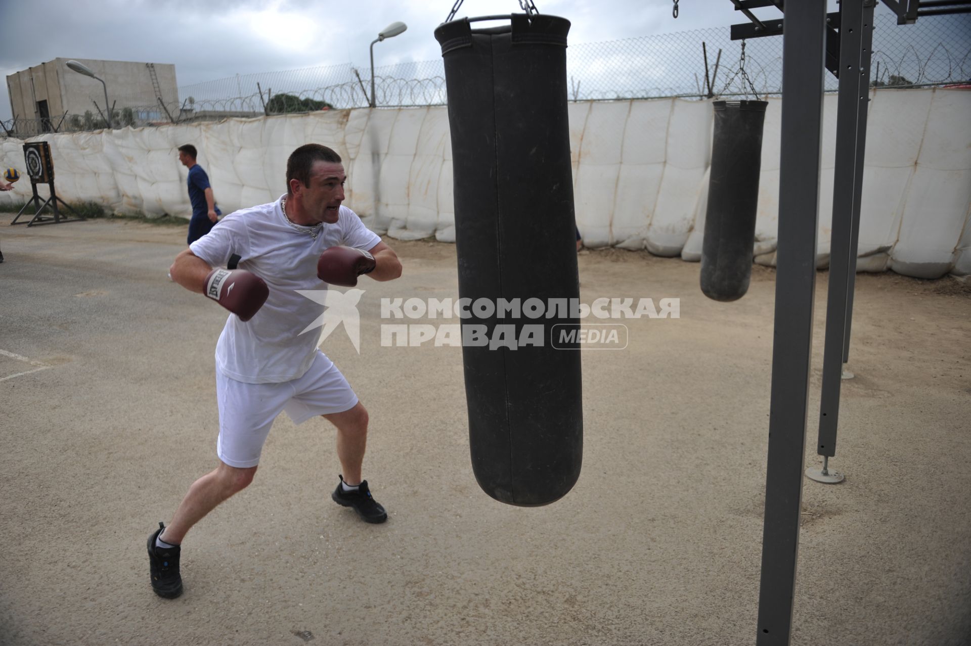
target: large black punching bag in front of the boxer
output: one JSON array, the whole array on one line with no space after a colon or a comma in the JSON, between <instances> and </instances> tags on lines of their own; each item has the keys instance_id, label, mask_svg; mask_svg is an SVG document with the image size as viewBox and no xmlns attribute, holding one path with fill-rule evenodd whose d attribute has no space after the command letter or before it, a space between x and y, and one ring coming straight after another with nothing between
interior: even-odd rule
<instances>
[{"instance_id":1,"label":"large black punching bag in front of the boxer","mask_svg":"<svg viewBox=\"0 0 971 646\"><path fill-rule=\"evenodd\" d=\"M506 16L488 19L497 18ZM495 500L534 506L570 491L583 455L580 352L561 336L579 319L557 307L580 297L570 22L509 18L487 29L453 20L435 38L452 131L458 294L472 304L461 321L472 469ZM513 309L500 316L488 303Z\"/></svg>"}]
</instances>

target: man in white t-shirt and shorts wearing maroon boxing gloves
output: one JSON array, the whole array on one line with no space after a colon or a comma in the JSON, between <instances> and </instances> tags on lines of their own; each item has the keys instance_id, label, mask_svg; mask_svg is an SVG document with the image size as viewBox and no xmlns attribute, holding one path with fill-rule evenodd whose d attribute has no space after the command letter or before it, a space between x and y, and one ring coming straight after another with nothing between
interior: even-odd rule
<instances>
[{"instance_id":1,"label":"man in white t-shirt and shorts wearing maroon boxing gloves","mask_svg":"<svg viewBox=\"0 0 971 646\"><path fill-rule=\"evenodd\" d=\"M233 313L216 346L218 467L189 487L169 526L159 523L149 536L151 587L159 597L182 594L185 533L250 484L281 411L297 424L322 415L337 427L343 473L331 498L369 523L387 519L361 479L367 410L318 349L314 324L324 307L297 291L353 286L363 274L375 280L401 275L394 251L341 206L346 180L336 152L302 145L286 162L285 195L225 216L172 265L173 280ZM221 269L236 257L238 269Z\"/></svg>"}]
</instances>

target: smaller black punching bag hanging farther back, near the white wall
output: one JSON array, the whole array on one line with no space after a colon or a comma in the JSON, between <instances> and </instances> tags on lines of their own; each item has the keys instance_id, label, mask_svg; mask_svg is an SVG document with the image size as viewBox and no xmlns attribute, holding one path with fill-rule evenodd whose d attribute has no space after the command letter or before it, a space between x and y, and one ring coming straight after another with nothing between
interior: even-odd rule
<instances>
[{"instance_id":1,"label":"smaller black punching bag hanging farther back, near the white wall","mask_svg":"<svg viewBox=\"0 0 971 646\"><path fill-rule=\"evenodd\" d=\"M749 291L752 277L762 124L768 103L716 101L714 105L701 291L716 301L736 301Z\"/></svg>"}]
</instances>

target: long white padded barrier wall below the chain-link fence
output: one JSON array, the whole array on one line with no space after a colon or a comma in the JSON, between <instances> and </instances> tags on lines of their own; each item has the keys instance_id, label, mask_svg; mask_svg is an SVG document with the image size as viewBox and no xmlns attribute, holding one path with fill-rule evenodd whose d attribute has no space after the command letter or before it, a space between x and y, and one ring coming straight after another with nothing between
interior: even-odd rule
<instances>
[{"instance_id":1,"label":"long white padded barrier wall below the chain-link fence","mask_svg":"<svg viewBox=\"0 0 971 646\"><path fill-rule=\"evenodd\" d=\"M829 254L836 95L823 100L818 264ZM766 111L755 262L775 265L781 101ZM573 103L577 223L589 246L647 248L697 261L712 143L710 102ZM452 145L445 107L328 111L218 123L45 135L58 195L120 212L190 214L176 148L193 144L223 212L285 191L286 157L309 142L345 160L347 204L379 233L454 241ZM18 140L4 167L23 174ZM47 189L41 188L43 195ZM30 195L23 179L0 200ZM919 277L971 274L971 92L877 90L867 127L857 269Z\"/></svg>"}]
</instances>

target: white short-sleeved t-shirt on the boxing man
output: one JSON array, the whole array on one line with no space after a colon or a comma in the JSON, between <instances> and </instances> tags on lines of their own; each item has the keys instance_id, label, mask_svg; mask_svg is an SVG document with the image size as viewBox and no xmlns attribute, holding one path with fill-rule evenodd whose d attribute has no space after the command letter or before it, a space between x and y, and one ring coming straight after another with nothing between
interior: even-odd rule
<instances>
[{"instance_id":1,"label":"white short-sleeved t-shirt on the boxing man","mask_svg":"<svg viewBox=\"0 0 971 646\"><path fill-rule=\"evenodd\" d=\"M236 314L229 315L216 345L218 370L246 383L303 376L317 353L320 328L300 332L324 307L296 290L327 289L327 283L317 277L317 261L324 249L343 244L370 250L379 242L381 238L347 207L341 207L336 223L314 227L290 223L279 199L222 218L209 234L189 245L192 253L212 267L225 267L232 254L239 254L239 269L262 278L270 295L246 323Z\"/></svg>"}]
</instances>

